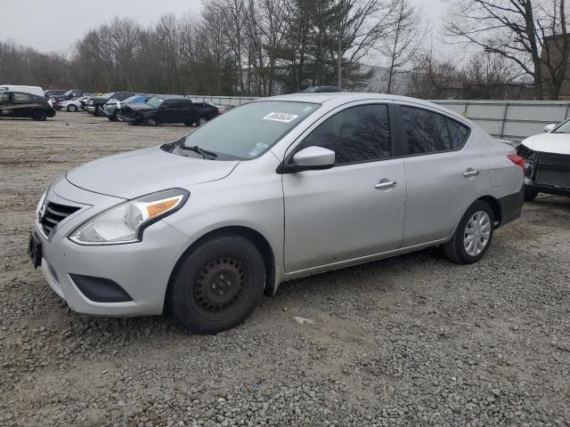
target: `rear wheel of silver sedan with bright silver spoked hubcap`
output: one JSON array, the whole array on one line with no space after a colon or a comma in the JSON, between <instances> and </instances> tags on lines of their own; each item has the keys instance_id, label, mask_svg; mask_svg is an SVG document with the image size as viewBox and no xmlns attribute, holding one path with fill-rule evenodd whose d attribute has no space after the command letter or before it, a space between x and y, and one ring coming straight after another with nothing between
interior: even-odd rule
<instances>
[{"instance_id":1,"label":"rear wheel of silver sedan with bright silver spoked hubcap","mask_svg":"<svg viewBox=\"0 0 570 427\"><path fill-rule=\"evenodd\" d=\"M477 216L479 215L479 216ZM484 223L483 228L474 227L474 221L480 219ZM477 200L469 206L467 212L461 218L460 224L455 230L452 239L444 245L444 254L458 264L472 264L479 261L493 242L495 217L491 206L483 200ZM469 232L473 230L473 234ZM473 237L471 246L468 246L468 237ZM479 242L476 244L476 242ZM473 245L476 245L474 247ZM483 247L481 247L483 246Z\"/></svg>"}]
</instances>

